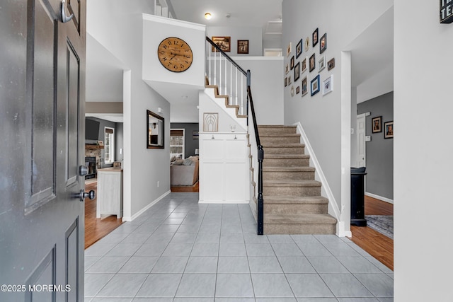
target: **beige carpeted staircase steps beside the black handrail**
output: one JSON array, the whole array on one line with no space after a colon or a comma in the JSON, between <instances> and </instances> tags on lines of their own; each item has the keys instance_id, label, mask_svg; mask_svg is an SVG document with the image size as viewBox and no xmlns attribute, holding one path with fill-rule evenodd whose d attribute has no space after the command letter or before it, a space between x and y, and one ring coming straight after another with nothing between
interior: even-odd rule
<instances>
[{"instance_id":1,"label":"beige carpeted staircase steps beside the black handrail","mask_svg":"<svg viewBox=\"0 0 453 302\"><path fill-rule=\"evenodd\" d=\"M335 234L328 199L314 180L295 126L258 126L264 149L265 234Z\"/></svg>"}]
</instances>

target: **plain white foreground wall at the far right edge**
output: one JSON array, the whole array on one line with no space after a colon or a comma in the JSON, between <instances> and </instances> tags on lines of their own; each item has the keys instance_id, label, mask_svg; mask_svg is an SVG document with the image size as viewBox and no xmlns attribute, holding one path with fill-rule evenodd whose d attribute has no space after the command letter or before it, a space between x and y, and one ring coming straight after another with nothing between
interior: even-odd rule
<instances>
[{"instance_id":1,"label":"plain white foreground wall at the far right edge","mask_svg":"<svg viewBox=\"0 0 453 302\"><path fill-rule=\"evenodd\" d=\"M394 12L395 301L453 301L453 24L439 1Z\"/></svg>"}]
</instances>

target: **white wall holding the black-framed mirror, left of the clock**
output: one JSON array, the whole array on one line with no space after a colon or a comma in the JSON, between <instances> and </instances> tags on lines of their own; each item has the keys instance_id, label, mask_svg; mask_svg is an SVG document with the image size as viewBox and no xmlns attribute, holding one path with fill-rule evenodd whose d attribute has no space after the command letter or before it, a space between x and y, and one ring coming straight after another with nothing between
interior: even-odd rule
<instances>
[{"instance_id":1,"label":"white wall holding the black-framed mirror, left of the clock","mask_svg":"<svg viewBox=\"0 0 453 302\"><path fill-rule=\"evenodd\" d=\"M88 33L130 69L127 76L130 88L123 90L125 219L131 219L170 190L170 104L142 81L142 13L153 13L151 2L97 0L87 3ZM166 149L147 149L146 112L157 112L159 107L165 119Z\"/></svg>"}]
</instances>

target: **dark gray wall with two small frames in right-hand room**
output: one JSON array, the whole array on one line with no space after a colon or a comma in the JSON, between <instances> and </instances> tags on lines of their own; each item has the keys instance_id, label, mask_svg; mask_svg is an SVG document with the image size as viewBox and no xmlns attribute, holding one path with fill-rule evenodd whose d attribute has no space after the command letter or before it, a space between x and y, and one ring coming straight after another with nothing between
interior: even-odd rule
<instances>
[{"instance_id":1,"label":"dark gray wall with two small frames in right-hand room","mask_svg":"<svg viewBox=\"0 0 453 302\"><path fill-rule=\"evenodd\" d=\"M384 139L384 123L394 120L394 93L357 104L357 114L371 112L366 117L367 176L368 193L394 199L394 139ZM372 133L372 118L382 116L382 132ZM398 135L398 130L396 130Z\"/></svg>"}]
</instances>

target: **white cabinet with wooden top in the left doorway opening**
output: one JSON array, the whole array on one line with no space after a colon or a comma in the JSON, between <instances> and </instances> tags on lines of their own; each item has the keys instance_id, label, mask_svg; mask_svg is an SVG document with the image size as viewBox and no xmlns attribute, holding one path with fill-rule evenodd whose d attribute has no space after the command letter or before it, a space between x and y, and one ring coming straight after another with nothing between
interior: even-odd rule
<instances>
[{"instance_id":1,"label":"white cabinet with wooden top in the left doorway opening","mask_svg":"<svg viewBox=\"0 0 453 302\"><path fill-rule=\"evenodd\" d=\"M96 218L105 215L122 217L122 168L98 169Z\"/></svg>"}]
</instances>

